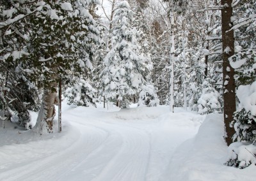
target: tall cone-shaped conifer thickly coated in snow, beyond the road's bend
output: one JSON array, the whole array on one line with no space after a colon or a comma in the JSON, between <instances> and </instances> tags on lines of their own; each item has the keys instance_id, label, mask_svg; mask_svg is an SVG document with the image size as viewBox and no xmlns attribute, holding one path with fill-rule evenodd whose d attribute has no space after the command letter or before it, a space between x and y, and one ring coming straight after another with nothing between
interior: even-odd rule
<instances>
[{"instance_id":1,"label":"tall cone-shaped conifer thickly coated in snow, beyond the road's bend","mask_svg":"<svg viewBox=\"0 0 256 181\"><path fill-rule=\"evenodd\" d=\"M104 96L108 100L122 101L123 108L141 91L149 75L148 60L140 55L138 31L131 25L132 17L127 1L118 4L113 17L112 48L104 59L102 71Z\"/></svg>"}]
</instances>

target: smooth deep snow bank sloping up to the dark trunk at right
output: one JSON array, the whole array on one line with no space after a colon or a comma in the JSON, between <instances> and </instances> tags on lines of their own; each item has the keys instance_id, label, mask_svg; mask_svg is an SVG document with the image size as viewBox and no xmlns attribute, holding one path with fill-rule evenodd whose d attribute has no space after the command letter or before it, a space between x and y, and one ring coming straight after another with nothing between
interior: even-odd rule
<instances>
[{"instance_id":1,"label":"smooth deep snow bank sloping up to the dark trunk at right","mask_svg":"<svg viewBox=\"0 0 256 181\"><path fill-rule=\"evenodd\" d=\"M222 117L221 114L209 114L205 117L195 138L185 141L177 148L162 180L255 180L254 165L244 170L224 165L228 152L223 139Z\"/></svg>"}]
</instances>

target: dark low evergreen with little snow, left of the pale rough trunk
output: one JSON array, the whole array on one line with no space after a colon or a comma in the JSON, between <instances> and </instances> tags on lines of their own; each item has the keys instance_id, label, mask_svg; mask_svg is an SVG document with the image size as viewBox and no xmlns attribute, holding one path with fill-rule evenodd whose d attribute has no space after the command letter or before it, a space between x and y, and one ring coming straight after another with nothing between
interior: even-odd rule
<instances>
[{"instance_id":1,"label":"dark low evergreen with little snow, left of the pale rough trunk","mask_svg":"<svg viewBox=\"0 0 256 181\"><path fill-rule=\"evenodd\" d=\"M38 89L22 75L18 67L15 71L10 68L8 72L11 76L5 79L2 79L0 73L0 110L8 115L6 120L31 129L29 111L38 111Z\"/></svg>"}]
</instances>

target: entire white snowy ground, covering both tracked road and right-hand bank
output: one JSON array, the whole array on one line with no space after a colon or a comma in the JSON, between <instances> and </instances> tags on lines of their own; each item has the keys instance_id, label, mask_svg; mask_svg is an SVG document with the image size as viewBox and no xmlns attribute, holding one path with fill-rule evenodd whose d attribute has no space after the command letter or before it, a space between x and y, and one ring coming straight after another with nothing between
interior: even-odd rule
<instances>
[{"instance_id":1,"label":"entire white snowy ground, covering both tracked road and right-hand bank","mask_svg":"<svg viewBox=\"0 0 256 181\"><path fill-rule=\"evenodd\" d=\"M0 180L254 180L254 165L223 166L221 117L204 118L168 106L64 106L62 133L0 128Z\"/></svg>"}]
</instances>

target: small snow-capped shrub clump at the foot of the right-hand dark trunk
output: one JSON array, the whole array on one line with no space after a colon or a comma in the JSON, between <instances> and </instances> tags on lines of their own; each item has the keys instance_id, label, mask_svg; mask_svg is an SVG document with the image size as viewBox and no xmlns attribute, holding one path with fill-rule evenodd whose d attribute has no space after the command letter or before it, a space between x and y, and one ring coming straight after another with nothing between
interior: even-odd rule
<instances>
[{"instance_id":1,"label":"small snow-capped shrub clump at the foot of the right-hand dark trunk","mask_svg":"<svg viewBox=\"0 0 256 181\"><path fill-rule=\"evenodd\" d=\"M252 143L235 142L228 147L227 166L246 168L256 164L256 146Z\"/></svg>"}]
</instances>

